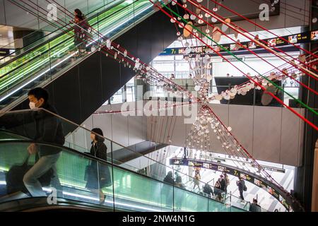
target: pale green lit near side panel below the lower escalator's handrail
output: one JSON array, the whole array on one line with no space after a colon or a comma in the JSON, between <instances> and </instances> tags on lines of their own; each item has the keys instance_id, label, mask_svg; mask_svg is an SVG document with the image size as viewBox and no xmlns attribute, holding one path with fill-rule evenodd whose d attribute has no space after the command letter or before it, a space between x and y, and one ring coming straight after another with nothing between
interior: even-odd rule
<instances>
[{"instance_id":1,"label":"pale green lit near side panel below the lower escalator's handrail","mask_svg":"<svg viewBox=\"0 0 318 226\"><path fill-rule=\"evenodd\" d=\"M30 145L30 141L4 141L0 139L0 174L3 172L6 175L11 167L23 164L28 156L28 145ZM41 148L48 146L43 143L37 143L37 145ZM114 210L134 211L245 211L69 148L63 148L57 162L57 176L65 189L64 196L74 200L78 200L80 197L81 200L78 201L96 203L96 200L94 201L92 198L94 197L92 193L86 189L86 167L91 162L96 162L101 168L107 166L110 169L112 186L102 188L103 193L107 197L111 197L104 204L107 209L113 206ZM30 164L33 163L34 159L32 158ZM5 181L2 184L5 184ZM1 201L1 196L4 195L8 194L0 194L0 206L6 204ZM169 204L171 201L173 201L172 206L170 206L171 203Z\"/></svg>"}]
</instances>

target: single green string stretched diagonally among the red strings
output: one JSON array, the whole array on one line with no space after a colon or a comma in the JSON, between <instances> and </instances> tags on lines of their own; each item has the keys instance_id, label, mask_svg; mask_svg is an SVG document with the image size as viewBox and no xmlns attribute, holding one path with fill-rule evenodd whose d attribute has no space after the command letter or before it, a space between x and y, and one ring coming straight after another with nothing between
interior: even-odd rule
<instances>
[{"instance_id":1,"label":"single green string stretched diagonally among the red strings","mask_svg":"<svg viewBox=\"0 0 318 226\"><path fill-rule=\"evenodd\" d=\"M168 8L167 6L163 5L165 8L167 8L170 12L172 12L173 14L175 14L175 16L181 18L181 20L183 20L184 23L188 23L187 20L185 20L182 16L180 16L178 13L175 13L175 11L172 11L172 9ZM176 6L178 7L178 6ZM255 69L253 69L251 66L247 65L244 61L242 61L241 59L239 59L238 57L236 57L235 54L233 54L232 52L228 51L228 49L225 49L222 45L218 44L218 42L215 42L211 37L208 37L204 32L202 32L199 28L196 28L196 26L191 25L192 28L196 29L198 32L200 32L202 35L204 35L205 37L207 37L209 40L211 40L212 42L216 43L218 45L218 47L220 47L221 49L223 49L225 52L228 52L228 54L232 55L233 57L235 57L235 59L237 59L238 61L242 62L243 64L245 64L246 66L248 66L250 69L252 69L253 71L255 71L256 73L258 73L259 75L261 75L261 73L259 73L258 71L256 71ZM279 90L283 91L283 93L286 93L287 95L289 95L290 97L292 97L294 100L296 100L298 103L300 103L300 105L302 105L303 107L309 109L311 112L313 112L314 114L318 115L318 113L316 111L314 111L314 109L312 109L311 107L309 107L308 105L306 105L304 102L296 99L295 97L293 97L293 95L290 95L290 93L287 93L283 88L281 88L279 85L277 85L276 83L274 83L273 81L269 80L266 76L262 76L262 78L265 78L266 81L269 81L269 83L271 83L272 85L276 86L276 88L278 88Z\"/></svg>"}]
</instances>

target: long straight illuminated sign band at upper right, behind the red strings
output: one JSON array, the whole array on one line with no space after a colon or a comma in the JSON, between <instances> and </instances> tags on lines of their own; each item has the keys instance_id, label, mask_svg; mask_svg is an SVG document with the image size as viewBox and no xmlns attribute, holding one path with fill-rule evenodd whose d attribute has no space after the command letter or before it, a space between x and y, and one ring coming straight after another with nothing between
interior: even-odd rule
<instances>
[{"instance_id":1,"label":"long straight illuminated sign band at upper right, behind the red strings","mask_svg":"<svg viewBox=\"0 0 318 226\"><path fill-rule=\"evenodd\" d=\"M283 39L288 40L288 42L293 44L300 44L300 43L307 43L307 42L315 42L318 40L318 30L314 30L311 32L301 32L294 35L285 35ZM264 40L267 43L268 47L282 47L286 45L290 45L290 43L285 42L279 37L276 38L269 38ZM242 47L240 44L242 44ZM213 49L215 52L235 52L235 51L242 51L248 49L262 49L258 44L255 42L241 42L240 44L237 43L230 43L230 44L220 44L220 45L213 45ZM181 48L167 48L164 52L161 52L160 56L165 55L184 55L186 47ZM206 46L201 47L192 47L192 52L190 54L206 54L206 53L213 53L213 51Z\"/></svg>"}]
</instances>

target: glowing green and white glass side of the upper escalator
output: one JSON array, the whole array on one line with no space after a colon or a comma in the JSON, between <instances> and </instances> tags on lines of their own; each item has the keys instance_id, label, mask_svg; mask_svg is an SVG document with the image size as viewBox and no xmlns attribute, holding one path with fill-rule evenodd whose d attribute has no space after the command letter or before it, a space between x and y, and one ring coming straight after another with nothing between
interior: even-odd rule
<instances>
[{"instance_id":1,"label":"glowing green and white glass side of the upper escalator","mask_svg":"<svg viewBox=\"0 0 318 226\"><path fill-rule=\"evenodd\" d=\"M150 1L130 2L124 1L110 10L102 11L90 18L88 22L93 29L98 31L93 32L90 40L95 40L96 44L101 40L104 42L106 37L113 38L153 12ZM1 107L27 93L28 89L52 81L53 78L61 75L88 54L94 52L93 41L86 41L86 46L92 47L92 49L87 49L88 51L82 53L81 56L76 56L78 49L73 42L72 27L73 25L69 27L71 30L66 30L65 34L57 35L56 38L0 68ZM100 34L103 36L100 37Z\"/></svg>"}]
</instances>

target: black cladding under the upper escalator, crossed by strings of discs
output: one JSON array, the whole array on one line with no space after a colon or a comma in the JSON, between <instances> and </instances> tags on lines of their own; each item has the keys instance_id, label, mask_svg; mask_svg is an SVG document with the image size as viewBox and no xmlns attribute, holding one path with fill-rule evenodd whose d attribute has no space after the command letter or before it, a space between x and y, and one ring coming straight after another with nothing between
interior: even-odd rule
<instances>
[{"instance_id":1,"label":"black cladding under the upper escalator, crossed by strings of discs","mask_svg":"<svg viewBox=\"0 0 318 226\"><path fill-rule=\"evenodd\" d=\"M157 12L114 42L149 63L176 38L175 25L163 13ZM81 124L134 76L128 66L96 52L45 88L59 114ZM16 109L27 107L28 101L25 101ZM72 129L72 126L66 128L65 133Z\"/></svg>"}]
</instances>

